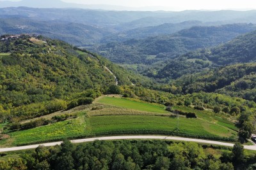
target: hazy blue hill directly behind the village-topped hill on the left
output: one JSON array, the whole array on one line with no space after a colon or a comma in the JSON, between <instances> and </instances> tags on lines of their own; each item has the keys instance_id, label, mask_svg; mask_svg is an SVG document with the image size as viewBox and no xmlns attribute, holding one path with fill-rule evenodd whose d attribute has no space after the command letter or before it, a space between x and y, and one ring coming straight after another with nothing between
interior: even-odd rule
<instances>
[{"instance_id":1,"label":"hazy blue hill directly behind the village-topped hill on the left","mask_svg":"<svg viewBox=\"0 0 256 170\"><path fill-rule=\"evenodd\" d=\"M40 21L26 17L0 18L0 34L40 34L76 46L99 43L110 29L60 20Z\"/></svg>"}]
</instances>

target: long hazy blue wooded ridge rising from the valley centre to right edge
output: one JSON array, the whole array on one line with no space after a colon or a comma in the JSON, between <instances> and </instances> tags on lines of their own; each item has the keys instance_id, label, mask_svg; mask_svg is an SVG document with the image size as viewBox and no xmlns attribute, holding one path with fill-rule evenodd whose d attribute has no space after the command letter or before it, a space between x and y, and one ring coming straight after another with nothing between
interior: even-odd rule
<instances>
[{"instance_id":1,"label":"long hazy blue wooded ridge rising from the valley centre to right edge","mask_svg":"<svg viewBox=\"0 0 256 170\"><path fill-rule=\"evenodd\" d=\"M220 45L254 30L255 25L253 24L195 26L165 36L129 39L122 43L107 43L95 50L117 63L152 64L199 48Z\"/></svg>"}]
</instances>

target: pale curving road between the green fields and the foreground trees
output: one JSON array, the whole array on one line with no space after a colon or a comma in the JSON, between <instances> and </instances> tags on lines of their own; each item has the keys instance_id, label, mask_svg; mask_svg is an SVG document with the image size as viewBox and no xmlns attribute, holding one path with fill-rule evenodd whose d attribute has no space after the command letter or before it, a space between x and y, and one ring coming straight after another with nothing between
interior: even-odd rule
<instances>
[{"instance_id":1,"label":"pale curving road between the green fields and the foreground trees","mask_svg":"<svg viewBox=\"0 0 256 170\"><path fill-rule=\"evenodd\" d=\"M212 145L221 145L221 146L234 146L233 143L224 143L220 141L209 141L204 139L191 139L191 138L181 138L181 137L173 137L173 136L109 136L109 137L99 137L99 138L86 138L86 139L76 139L71 140L72 143L85 143L85 142L92 142L95 140L118 140L118 139L164 139L164 140L173 140L173 141L191 141L196 143L207 143ZM37 148L39 145L44 146L55 146L60 145L62 141L52 142L52 143L42 143L38 145L28 145L28 146L17 146L13 148L0 148L0 152L10 152L10 151L17 151L17 150L28 150ZM245 145L244 149L247 150L256 150L256 145L248 146Z\"/></svg>"}]
</instances>

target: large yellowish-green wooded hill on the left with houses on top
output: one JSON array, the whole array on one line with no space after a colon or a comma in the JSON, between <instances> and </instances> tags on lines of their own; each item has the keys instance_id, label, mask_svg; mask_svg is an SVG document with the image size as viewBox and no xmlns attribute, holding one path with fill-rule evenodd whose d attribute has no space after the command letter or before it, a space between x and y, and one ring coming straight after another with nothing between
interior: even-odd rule
<instances>
[{"instance_id":1,"label":"large yellowish-green wooded hill on the left with houses on top","mask_svg":"<svg viewBox=\"0 0 256 170\"><path fill-rule=\"evenodd\" d=\"M70 104L90 102L115 85L113 74L104 66L116 75L120 85L143 81L63 41L42 36L1 36L0 121L15 115L35 117Z\"/></svg>"}]
</instances>

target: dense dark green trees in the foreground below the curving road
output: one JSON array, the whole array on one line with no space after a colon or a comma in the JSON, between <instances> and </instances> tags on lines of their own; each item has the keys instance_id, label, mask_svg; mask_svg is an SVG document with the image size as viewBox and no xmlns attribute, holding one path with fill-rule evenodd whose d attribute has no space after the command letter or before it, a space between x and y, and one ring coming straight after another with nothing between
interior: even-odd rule
<instances>
[{"instance_id":1,"label":"dense dark green trees in the foreground below the curving road","mask_svg":"<svg viewBox=\"0 0 256 170\"><path fill-rule=\"evenodd\" d=\"M234 148L172 141L95 141L39 146L17 159L0 160L0 169L253 169L255 153Z\"/></svg>"}]
</instances>

